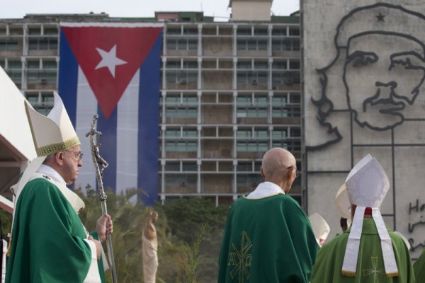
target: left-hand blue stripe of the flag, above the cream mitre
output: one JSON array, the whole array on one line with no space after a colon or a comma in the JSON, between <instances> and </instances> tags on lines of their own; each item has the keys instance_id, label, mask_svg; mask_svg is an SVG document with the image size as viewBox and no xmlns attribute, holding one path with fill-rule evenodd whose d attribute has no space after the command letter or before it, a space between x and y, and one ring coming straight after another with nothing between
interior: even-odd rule
<instances>
[{"instance_id":1,"label":"left-hand blue stripe of the flag, above the cream mitre","mask_svg":"<svg viewBox=\"0 0 425 283\"><path fill-rule=\"evenodd\" d=\"M60 98L67 109L69 119L76 127L77 119L77 81L78 81L78 63L68 44L67 37L60 32L60 62L59 62L59 86ZM79 137L80 139L82 137Z\"/></svg>"}]
</instances>

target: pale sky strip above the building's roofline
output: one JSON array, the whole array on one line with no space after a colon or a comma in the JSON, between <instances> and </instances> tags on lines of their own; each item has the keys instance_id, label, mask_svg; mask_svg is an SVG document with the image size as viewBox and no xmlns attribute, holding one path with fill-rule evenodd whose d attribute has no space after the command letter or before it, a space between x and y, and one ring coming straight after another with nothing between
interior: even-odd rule
<instances>
[{"instance_id":1,"label":"pale sky strip above the building's roofline","mask_svg":"<svg viewBox=\"0 0 425 283\"><path fill-rule=\"evenodd\" d=\"M108 13L110 17L154 17L155 11L203 11L215 21L227 21L229 0L6 0L0 18L23 18L28 13ZM273 0L275 16L298 11L299 0Z\"/></svg>"}]
</instances>

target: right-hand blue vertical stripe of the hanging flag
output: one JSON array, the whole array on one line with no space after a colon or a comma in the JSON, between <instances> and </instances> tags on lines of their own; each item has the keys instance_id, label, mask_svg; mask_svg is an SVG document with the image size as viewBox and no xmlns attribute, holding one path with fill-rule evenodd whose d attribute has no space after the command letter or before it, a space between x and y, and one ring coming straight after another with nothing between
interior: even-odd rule
<instances>
[{"instance_id":1,"label":"right-hand blue vertical stripe of the hanging flag","mask_svg":"<svg viewBox=\"0 0 425 283\"><path fill-rule=\"evenodd\" d=\"M158 200L159 76L162 33L140 67L137 187L147 205Z\"/></svg>"}]
</instances>

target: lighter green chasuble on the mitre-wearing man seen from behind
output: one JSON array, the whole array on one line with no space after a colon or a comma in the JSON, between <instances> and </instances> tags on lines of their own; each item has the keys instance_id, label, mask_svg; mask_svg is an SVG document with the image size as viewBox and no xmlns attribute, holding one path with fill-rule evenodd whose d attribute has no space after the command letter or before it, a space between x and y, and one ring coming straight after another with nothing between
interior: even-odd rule
<instances>
[{"instance_id":1,"label":"lighter green chasuble on the mitre-wearing man seen from behind","mask_svg":"<svg viewBox=\"0 0 425 283\"><path fill-rule=\"evenodd\" d=\"M382 250L378 230L373 219L363 220L360 248L358 249L358 260L356 277L341 275L342 262L346 250L350 229L325 243L320 248L316 263L313 267L312 283L340 282L340 283L378 283L399 282L413 283L414 271L410 260L409 250L403 239L392 231L388 231L392 241L395 260L399 270L399 276L386 277Z\"/></svg>"}]
</instances>

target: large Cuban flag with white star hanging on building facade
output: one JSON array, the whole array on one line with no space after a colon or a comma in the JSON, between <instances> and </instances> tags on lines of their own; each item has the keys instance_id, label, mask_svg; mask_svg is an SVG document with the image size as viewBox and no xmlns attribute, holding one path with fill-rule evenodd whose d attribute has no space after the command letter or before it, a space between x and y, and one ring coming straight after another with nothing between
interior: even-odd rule
<instances>
[{"instance_id":1,"label":"large Cuban flag with white star hanging on building facade","mask_svg":"<svg viewBox=\"0 0 425 283\"><path fill-rule=\"evenodd\" d=\"M91 121L99 115L99 153L109 166L103 187L142 189L158 198L159 85L162 23L61 23L59 94L81 141L75 186L96 187Z\"/></svg>"}]
</instances>

